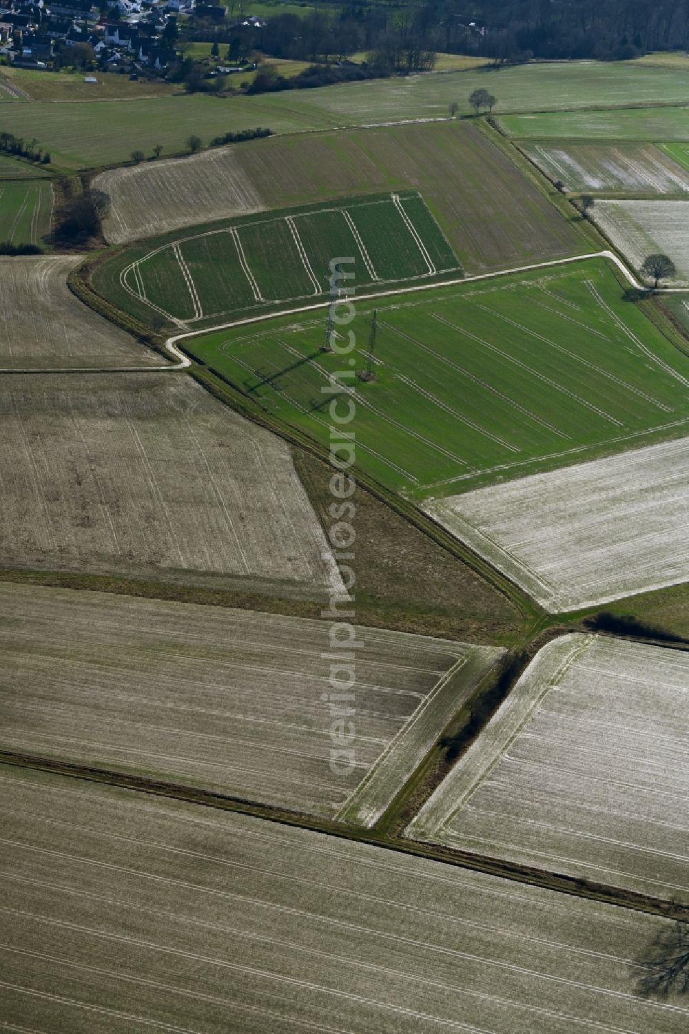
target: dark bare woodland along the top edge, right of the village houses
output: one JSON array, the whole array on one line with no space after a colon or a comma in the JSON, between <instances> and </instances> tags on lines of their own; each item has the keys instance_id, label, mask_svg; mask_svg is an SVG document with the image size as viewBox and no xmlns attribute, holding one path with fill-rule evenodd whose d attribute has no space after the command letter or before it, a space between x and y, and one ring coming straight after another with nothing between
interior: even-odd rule
<instances>
[{"instance_id":1,"label":"dark bare woodland along the top edge, right of the village houses","mask_svg":"<svg viewBox=\"0 0 689 1034\"><path fill-rule=\"evenodd\" d=\"M424 70L438 51L498 63L533 57L618 60L689 48L689 0L474 0L459 10L455 0L405 6L351 0L341 8L275 14L259 28L199 23L194 36L228 44L231 60L260 50L333 63L363 51L379 74Z\"/></svg>"}]
</instances>

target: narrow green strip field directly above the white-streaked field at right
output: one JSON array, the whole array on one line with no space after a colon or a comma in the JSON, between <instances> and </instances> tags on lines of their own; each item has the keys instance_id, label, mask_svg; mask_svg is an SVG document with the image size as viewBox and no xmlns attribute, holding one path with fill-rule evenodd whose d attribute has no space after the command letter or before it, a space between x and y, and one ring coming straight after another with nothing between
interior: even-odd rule
<instances>
[{"instance_id":1,"label":"narrow green strip field directly above the white-streaked field at right","mask_svg":"<svg viewBox=\"0 0 689 1034\"><path fill-rule=\"evenodd\" d=\"M689 141L689 108L539 112L501 116L499 122L510 136L521 140Z\"/></svg>"}]
</instances>

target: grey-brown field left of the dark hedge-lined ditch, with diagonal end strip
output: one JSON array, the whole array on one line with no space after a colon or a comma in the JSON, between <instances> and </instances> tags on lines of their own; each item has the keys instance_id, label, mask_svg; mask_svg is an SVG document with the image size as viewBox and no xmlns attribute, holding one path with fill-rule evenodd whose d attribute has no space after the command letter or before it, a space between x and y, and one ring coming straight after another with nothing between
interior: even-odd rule
<instances>
[{"instance_id":1,"label":"grey-brown field left of the dark hedge-lined ditch, with diagonal end strip","mask_svg":"<svg viewBox=\"0 0 689 1034\"><path fill-rule=\"evenodd\" d=\"M329 622L2 583L0 612L0 749L367 825L502 652L357 629L342 711Z\"/></svg>"}]
</instances>

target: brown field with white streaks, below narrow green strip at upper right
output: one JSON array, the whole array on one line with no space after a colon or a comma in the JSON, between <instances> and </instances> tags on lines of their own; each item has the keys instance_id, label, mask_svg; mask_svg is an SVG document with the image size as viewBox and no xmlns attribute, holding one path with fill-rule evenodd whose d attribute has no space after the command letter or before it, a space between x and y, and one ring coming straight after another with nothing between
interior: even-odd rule
<instances>
[{"instance_id":1,"label":"brown field with white streaks, below narrow green strip at upper right","mask_svg":"<svg viewBox=\"0 0 689 1034\"><path fill-rule=\"evenodd\" d=\"M689 172L653 144L526 144L522 150L567 190L689 191Z\"/></svg>"}]
</instances>

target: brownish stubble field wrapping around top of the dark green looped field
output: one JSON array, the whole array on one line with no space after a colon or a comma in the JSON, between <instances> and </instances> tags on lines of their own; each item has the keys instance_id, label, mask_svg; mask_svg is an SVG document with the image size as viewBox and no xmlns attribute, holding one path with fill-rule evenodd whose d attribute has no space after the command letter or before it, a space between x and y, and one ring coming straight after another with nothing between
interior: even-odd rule
<instances>
[{"instance_id":1,"label":"brownish stubble field wrapping around top of the dark green looped field","mask_svg":"<svg viewBox=\"0 0 689 1034\"><path fill-rule=\"evenodd\" d=\"M205 171L226 184L209 193ZM229 218L246 205L283 209L394 190L419 190L460 264L471 272L576 254L586 244L509 158L467 121L301 133L210 154L115 170L111 239ZM171 211L169 195L177 203ZM146 211L142 210L142 199ZM152 231L147 229L147 232Z\"/></svg>"}]
</instances>

